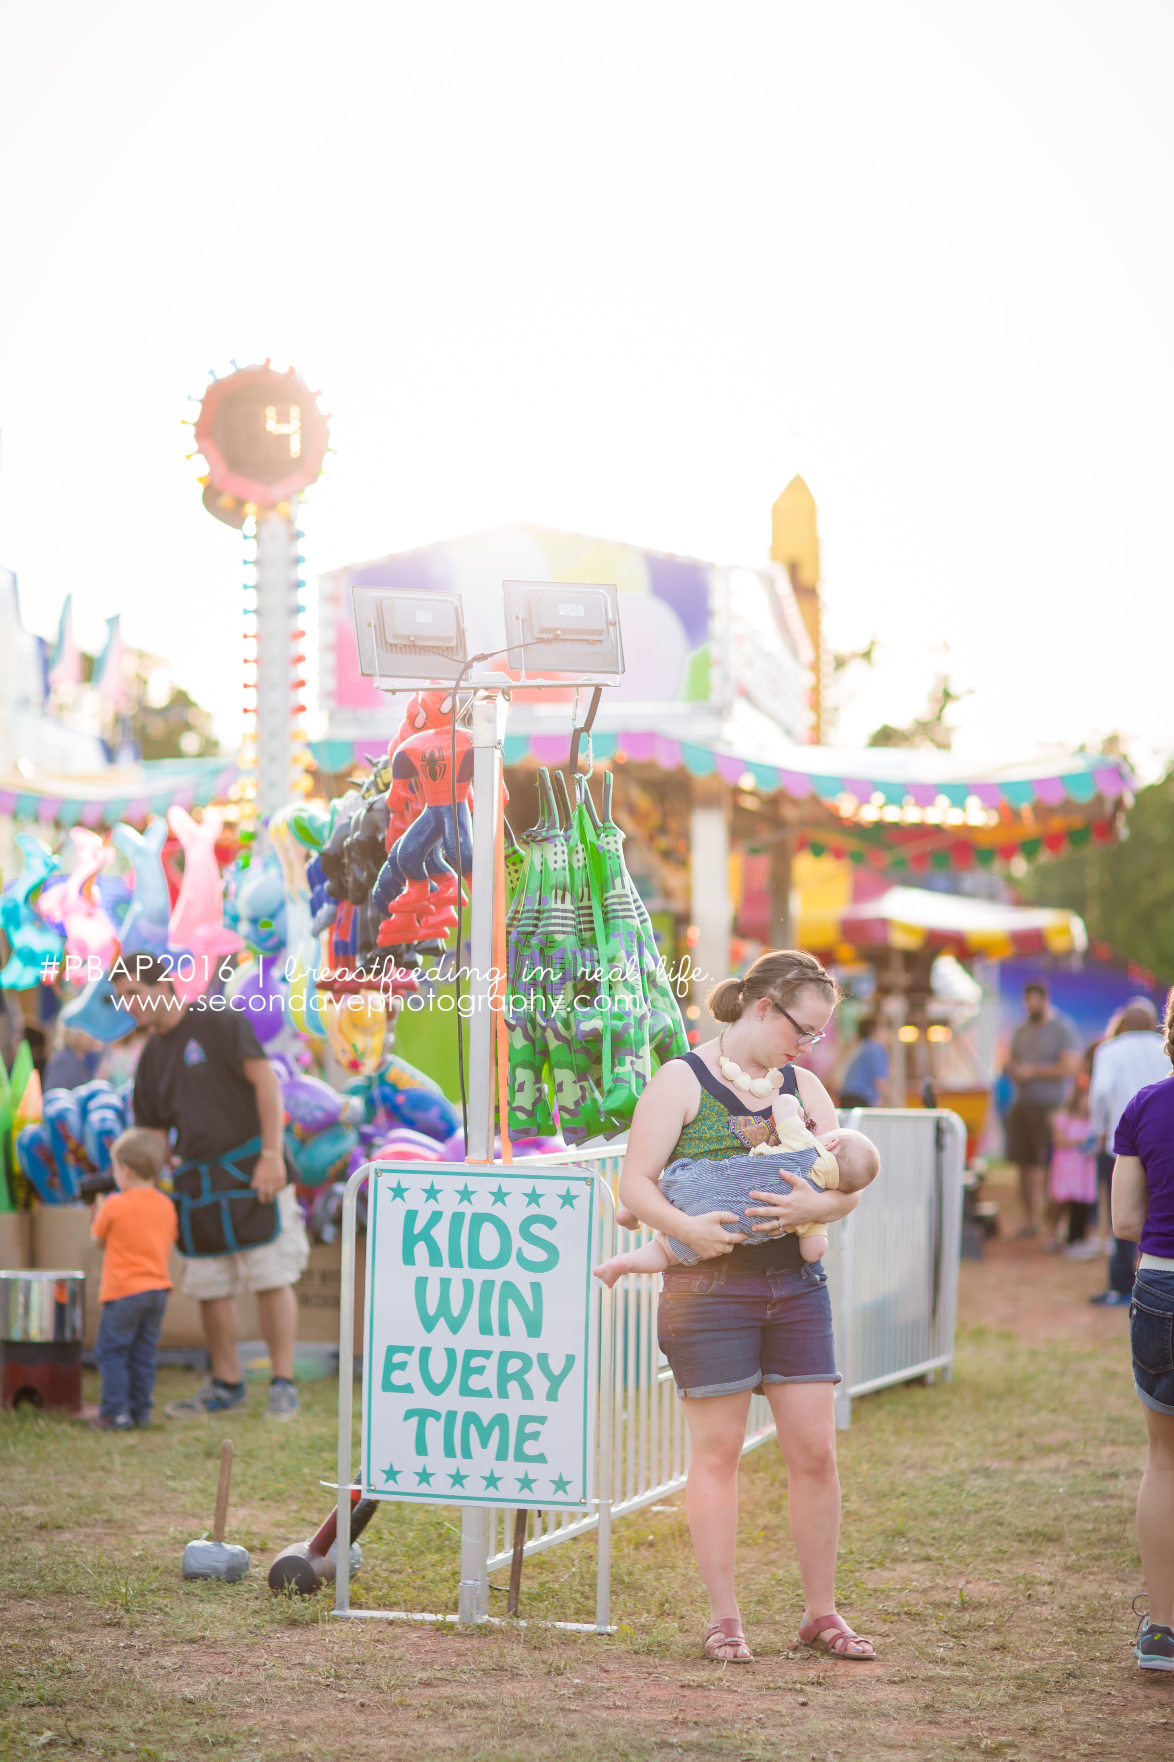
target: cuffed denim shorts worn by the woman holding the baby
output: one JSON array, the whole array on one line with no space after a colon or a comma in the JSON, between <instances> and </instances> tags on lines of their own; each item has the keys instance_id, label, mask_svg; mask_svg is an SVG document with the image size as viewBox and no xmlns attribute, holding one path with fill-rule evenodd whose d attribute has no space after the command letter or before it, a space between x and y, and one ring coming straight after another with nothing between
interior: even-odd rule
<instances>
[{"instance_id":1,"label":"cuffed denim shorts worn by the woman holding the baby","mask_svg":"<svg viewBox=\"0 0 1174 1762\"><path fill-rule=\"evenodd\" d=\"M657 1332L678 1396L734 1396L764 1383L838 1383L822 1263L748 1272L706 1260L671 1269Z\"/></svg>"}]
</instances>

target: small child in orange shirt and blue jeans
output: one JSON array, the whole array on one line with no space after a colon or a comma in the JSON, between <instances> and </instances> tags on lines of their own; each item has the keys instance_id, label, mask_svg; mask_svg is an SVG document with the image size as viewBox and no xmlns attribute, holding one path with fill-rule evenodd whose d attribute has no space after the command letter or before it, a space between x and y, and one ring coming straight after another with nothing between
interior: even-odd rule
<instances>
[{"instance_id":1,"label":"small child in orange shirt and blue jeans","mask_svg":"<svg viewBox=\"0 0 1174 1762\"><path fill-rule=\"evenodd\" d=\"M167 1260L180 1235L176 1207L158 1191L164 1152L158 1133L123 1131L111 1145L118 1193L99 1200L92 1233L106 1246L102 1320L95 1357L102 1406L99 1431L150 1425L155 1404L155 1346L171 1292Z\"/></svg>"}]
</instances>

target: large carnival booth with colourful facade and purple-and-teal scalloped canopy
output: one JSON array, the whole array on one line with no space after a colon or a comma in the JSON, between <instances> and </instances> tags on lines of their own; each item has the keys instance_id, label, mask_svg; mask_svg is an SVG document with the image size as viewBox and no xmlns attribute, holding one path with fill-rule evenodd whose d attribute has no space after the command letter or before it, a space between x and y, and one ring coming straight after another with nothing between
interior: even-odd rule
<instances>
[{"instance_id":1,"label":"large carnival booth with colourful facade and purple-and-teal scalloped canopy","mask_svg":"<svg viewBox=\"0 0 1174 1762\"><path fill-rule=\"evenodd\" d=\"M614 819L662 955L706 976L690 999L693 1040L713 978L794 943L799 853L899 885L1116 837L1132 784L1118 758L984 766L935 749L815 744L815 566L804 576L792 550L776 530L780 560L741 569L517 525L338 569L319 597L319 770L341 788L385 752L387 698L361 670L356 590L459 594L481 650L502 641L503 580L618 583L627 671L583 752L614 779ZM539 770L569 763L574 721L574 692L558 685L512 705L510 825L535 821Z\"/></svg>"}]
</instances>

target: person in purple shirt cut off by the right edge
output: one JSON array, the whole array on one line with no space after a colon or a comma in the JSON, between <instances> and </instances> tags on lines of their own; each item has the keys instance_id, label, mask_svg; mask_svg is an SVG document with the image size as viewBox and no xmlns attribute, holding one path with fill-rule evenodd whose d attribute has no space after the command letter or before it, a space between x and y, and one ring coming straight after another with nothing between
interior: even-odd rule
<instances>
[{"instance_id":1,"label":"person in purple shirt cut off by the right edge","mask_svg":"<svg viewBox=\"0 0 1174 1762\"><path fill-rule=\"evenodd\" d=\"M1174 1062L1174 990L1165 1010ZM1139 1242L1130 1307L1134 1383L1149 1450L1137 1489L1137 1547L1149 1614L1137 1633L1142 1670L1174 1670L1174 1080L1139 1089L1118 1121L1112 1149L1112 1233Z\"/></svg>"}]
</instances>

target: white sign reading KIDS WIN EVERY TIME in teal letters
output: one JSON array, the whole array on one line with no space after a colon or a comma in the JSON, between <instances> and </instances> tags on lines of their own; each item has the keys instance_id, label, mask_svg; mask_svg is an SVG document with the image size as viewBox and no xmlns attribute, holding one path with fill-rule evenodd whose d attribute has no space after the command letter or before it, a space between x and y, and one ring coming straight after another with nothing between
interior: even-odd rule
<instances>
[{"instance_id":1,"label":"white sign reading KIDS WIN EVERY TIME in teal letters","mask_svg":"<svg viewBox=\"0 0 1174 1762\"><path fill-rule=\"evenodd\" d=\"M378 1163L366 1226L363 1489L591 1501L595 1177Z\"/></svg>"}]
</instances>

